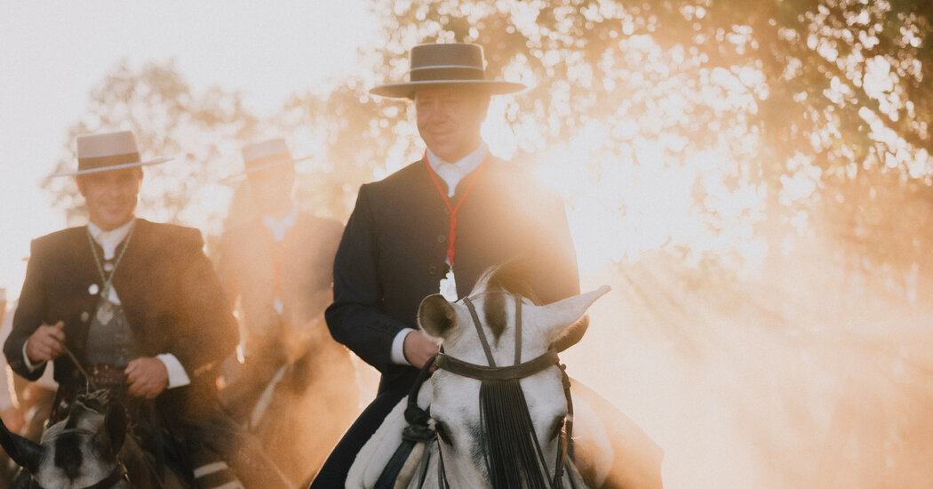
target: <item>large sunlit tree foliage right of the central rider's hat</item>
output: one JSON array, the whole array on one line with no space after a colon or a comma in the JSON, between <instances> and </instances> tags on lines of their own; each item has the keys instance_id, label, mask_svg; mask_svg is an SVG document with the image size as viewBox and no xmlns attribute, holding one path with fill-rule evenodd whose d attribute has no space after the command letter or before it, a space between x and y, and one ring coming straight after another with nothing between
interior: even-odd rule
<instances>
[{"instance_id":1,"label":"large sunlit tree foliage right of the central rider's hat","mask_svg":"<svg viewBox=\"0 0 933 489\"><path fill-rule=\"evenodd\" d=\"M928 280L930 9L920 0L374 0L392 15L365 86L404 79L414 44L478 42L494 77L532 85L504 111L515 160L573 160L559 173L564 197L581 212L626 217L603 230L611 236L657 233L652 223L671 209L640 204L637 188L666 181L691 194L677 212L702 225L665 222L646 249L689 244L703 254L698 241L739 243L751 229L780 255L788 232L817 232L856 268ZM371 110L388 128L409 117L391 102ZM383 138L399 135L367 129L383 150ZM418 142L407 141L400 152L411 158ZM600 187L620 195L592 191ZM717 253L728 261L728 250Z\"/></svg>"}]
</instances>

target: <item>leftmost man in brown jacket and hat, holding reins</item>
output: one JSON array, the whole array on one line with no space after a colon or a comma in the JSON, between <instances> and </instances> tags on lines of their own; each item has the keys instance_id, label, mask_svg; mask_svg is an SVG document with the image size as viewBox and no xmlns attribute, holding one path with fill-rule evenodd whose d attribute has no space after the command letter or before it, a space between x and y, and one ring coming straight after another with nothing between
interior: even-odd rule
<instances>
[{"instance_id":1,"label":"leftmost man in brown jacket and hat, holding reins","mask_svg":"<svg viewBox=\"0 0 933 489\"><path fill-rule=\"evenodd\" d=\"M187 469L214 472L212 453L224 454L246 481L272 465L216 401L215 367L236 346L237 328L201 232L135 216L142 168L168 160L143 159L128 131L77 138L77 170L55 176L75 176L89 222L33 241L4 353L31 381L54 362L50 422L89 385L106 388L134 420L128 440L157 460L171 452L151 423L161 419L196 458ZM145 477L145 460L124 463Z\"/></svg>"}]
</instances>

